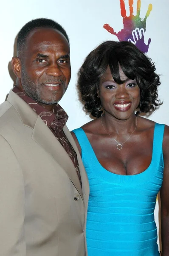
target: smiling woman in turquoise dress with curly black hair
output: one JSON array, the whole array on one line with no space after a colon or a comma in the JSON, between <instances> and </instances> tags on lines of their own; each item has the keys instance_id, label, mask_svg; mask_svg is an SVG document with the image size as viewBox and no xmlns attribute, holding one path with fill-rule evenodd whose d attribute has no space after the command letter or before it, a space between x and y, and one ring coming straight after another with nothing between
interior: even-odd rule
<instances>
[{"instance_id":1,"label":"smiling woman in turquoise dress with curly black hair","mask_svg":"<svg viewBox=\"0 0 169 256\"><path fill-rule=\"evenodd\" d=\"M169 255L169 127L139 116L161 105L159 85L154 63L130 42L104 42L80 69L82 101L96 117L72 132L90 183L88 256L158 256L159 190Z\"/></svg>"}]
</instances>

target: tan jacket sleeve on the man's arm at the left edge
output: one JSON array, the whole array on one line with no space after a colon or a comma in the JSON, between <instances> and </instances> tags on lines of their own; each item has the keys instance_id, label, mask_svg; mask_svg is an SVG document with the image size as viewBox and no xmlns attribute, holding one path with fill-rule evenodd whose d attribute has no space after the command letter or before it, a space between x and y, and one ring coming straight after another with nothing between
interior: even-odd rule
<instances>
[{"instance_id":1,"label":"tan jacket sleeve on the man's arm at the left edge","mask_svg":"<svg viewBox=\"0 0 169 256\"><path fill-rule=\"evenodd\" d=\"M24 181L17 158L0 135L0 256L25 256Z\"/></svg>"}]
</instances>

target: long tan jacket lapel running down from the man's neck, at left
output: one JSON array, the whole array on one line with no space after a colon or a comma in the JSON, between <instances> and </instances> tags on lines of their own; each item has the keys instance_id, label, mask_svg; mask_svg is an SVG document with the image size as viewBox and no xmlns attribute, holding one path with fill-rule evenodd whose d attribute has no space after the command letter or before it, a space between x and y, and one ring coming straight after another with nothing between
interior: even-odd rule
<instances>
[{"instance_id":1,"label":"long tan jacket lapel running down from the man's neck, at left","mask_svg":"<svg viewBox=\"0 0 169 256\"><path fill-rule=\"evenodd\" d=\"M35 113L28 104L13 91L10 91L7 100L19 113L23 125L33 129L32 139L44 148L45 151L62 167L83 199L82 188L73 162L54 134L45 125L37 113Z\"/></svg>"}]
</instances>

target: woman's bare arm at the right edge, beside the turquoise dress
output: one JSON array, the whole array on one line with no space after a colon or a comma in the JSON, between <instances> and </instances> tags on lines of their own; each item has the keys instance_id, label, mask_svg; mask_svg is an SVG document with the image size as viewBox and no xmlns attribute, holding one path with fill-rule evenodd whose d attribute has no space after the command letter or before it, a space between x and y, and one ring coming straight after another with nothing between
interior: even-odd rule
<instances>
[{"instance_id":1,"label":"woman's bare arm at the right edge, beside the turquoise dress","mask_svg":"<svg viewBox=\"0 0 169 256\"><path fill-rule=\"evenodd\" d=\"M161 256L169 256L169 126L165 126L163 139L163 184L160 190L161 197Z\"/></svg>"}]
</instances>

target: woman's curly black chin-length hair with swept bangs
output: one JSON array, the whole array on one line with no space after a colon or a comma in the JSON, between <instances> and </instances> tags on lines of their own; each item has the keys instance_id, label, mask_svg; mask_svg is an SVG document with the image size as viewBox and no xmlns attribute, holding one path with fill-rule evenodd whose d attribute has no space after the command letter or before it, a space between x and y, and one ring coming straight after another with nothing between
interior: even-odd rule
<instances>
[{"instance_id":1,"label":"woman's curly black chin-length hair with swept bangs","mask_svg":"<svg viewBox=\"0 0 169 256\"><path fill-rule=\"evenodd\" d=\"M136 114L152 113L162 103L158 98L158 86L161 84L155 73L152 60L134 44L126 41L106 41L94 49L85 59L79 70L78 89L85 109L92 116L99 117L103 111L97 94L99 80L107 67L110 67L113 79L122 84L119 65L129 79L136 79L140 87L140 104Z\"/></svg>"}]
</instances>

